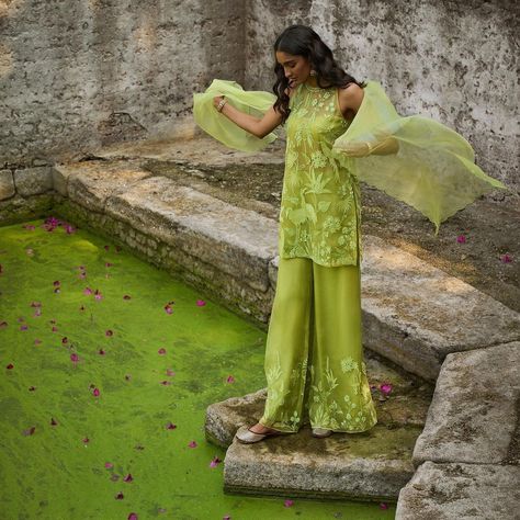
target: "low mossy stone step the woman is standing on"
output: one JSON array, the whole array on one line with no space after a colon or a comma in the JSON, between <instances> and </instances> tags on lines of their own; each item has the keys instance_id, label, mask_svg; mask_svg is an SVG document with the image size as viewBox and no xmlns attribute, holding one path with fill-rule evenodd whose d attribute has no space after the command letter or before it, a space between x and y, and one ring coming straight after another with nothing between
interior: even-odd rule
<instances>
[{"instance_id":1,"label":"low mossy stone step the woman is standing on","mask_svg":"<svg viewBox=\"0 0 520 520\"><path fill-rule=\"evenodd\" d=\"M215 403L206 412L206 439L227 449L224 489L248 495L396 501L411 478L412 450L423 428L433 387L391 369L365 352L377 423L362 433L312 437L309 425L297 433L255 444L234 439L238 429L262 416L265 388ZM377 389L392 382L384 399Z\"/></svg>"}]
</instances>

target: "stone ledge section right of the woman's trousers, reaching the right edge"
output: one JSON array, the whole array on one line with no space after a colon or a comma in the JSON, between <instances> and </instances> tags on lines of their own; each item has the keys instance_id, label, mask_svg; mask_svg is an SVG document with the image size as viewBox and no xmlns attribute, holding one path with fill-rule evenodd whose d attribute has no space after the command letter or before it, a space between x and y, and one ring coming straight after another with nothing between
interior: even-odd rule
<instances>
[{"instance_id":1,"label":"stone ledge section right of the woman's trousers, reaching the right edge","mask_svg":"<svg viewBox=\"0 0 520 520\"><path fill-rule=\"evenodd\" d=\"M451 352L520 339L520 315L472 285L365 236L363 343L405 370L436 381Z\"/></svg>"}]
</instances>

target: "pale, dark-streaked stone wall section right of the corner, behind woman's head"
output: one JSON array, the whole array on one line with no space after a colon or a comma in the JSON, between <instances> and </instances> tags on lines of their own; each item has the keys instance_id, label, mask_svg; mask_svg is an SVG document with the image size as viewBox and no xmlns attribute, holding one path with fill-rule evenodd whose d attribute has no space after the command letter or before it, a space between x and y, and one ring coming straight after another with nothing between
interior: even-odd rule
<instances>
[{"instance_id":1,"label":"pale, dark-streaked stone wall section right of the corner, behind woman's head","mask_svg":"<svg viewBox=\"0 0 520 520\"><path fill-rule=\"evenodd\" d=\"M355 79L380 81L402 115L461 133L481 168L518 191L519 14L515 0L251 0L245 88L271 91L276 36L310 25Z\"/></svg>"}]
</instances>

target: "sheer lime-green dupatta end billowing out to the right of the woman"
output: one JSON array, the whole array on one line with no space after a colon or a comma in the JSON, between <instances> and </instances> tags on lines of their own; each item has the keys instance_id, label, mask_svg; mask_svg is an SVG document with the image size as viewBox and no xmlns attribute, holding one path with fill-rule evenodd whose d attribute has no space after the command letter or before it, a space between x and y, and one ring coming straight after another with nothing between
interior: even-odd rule
<instances>
[{"instance_id":1,"label":"sheer lime-green dupatta end billowing out to the right of the woman","mask_svg":"<svg viewBox=\"0 0 520 520\"><path fill-rule=\"evenodd\" d=\"M332 151L360 180L426 215L436 225L496 188L508 190L474 163L462 135L434 120L402 117L376 81Z\"/></svg>"}]
</instances>

